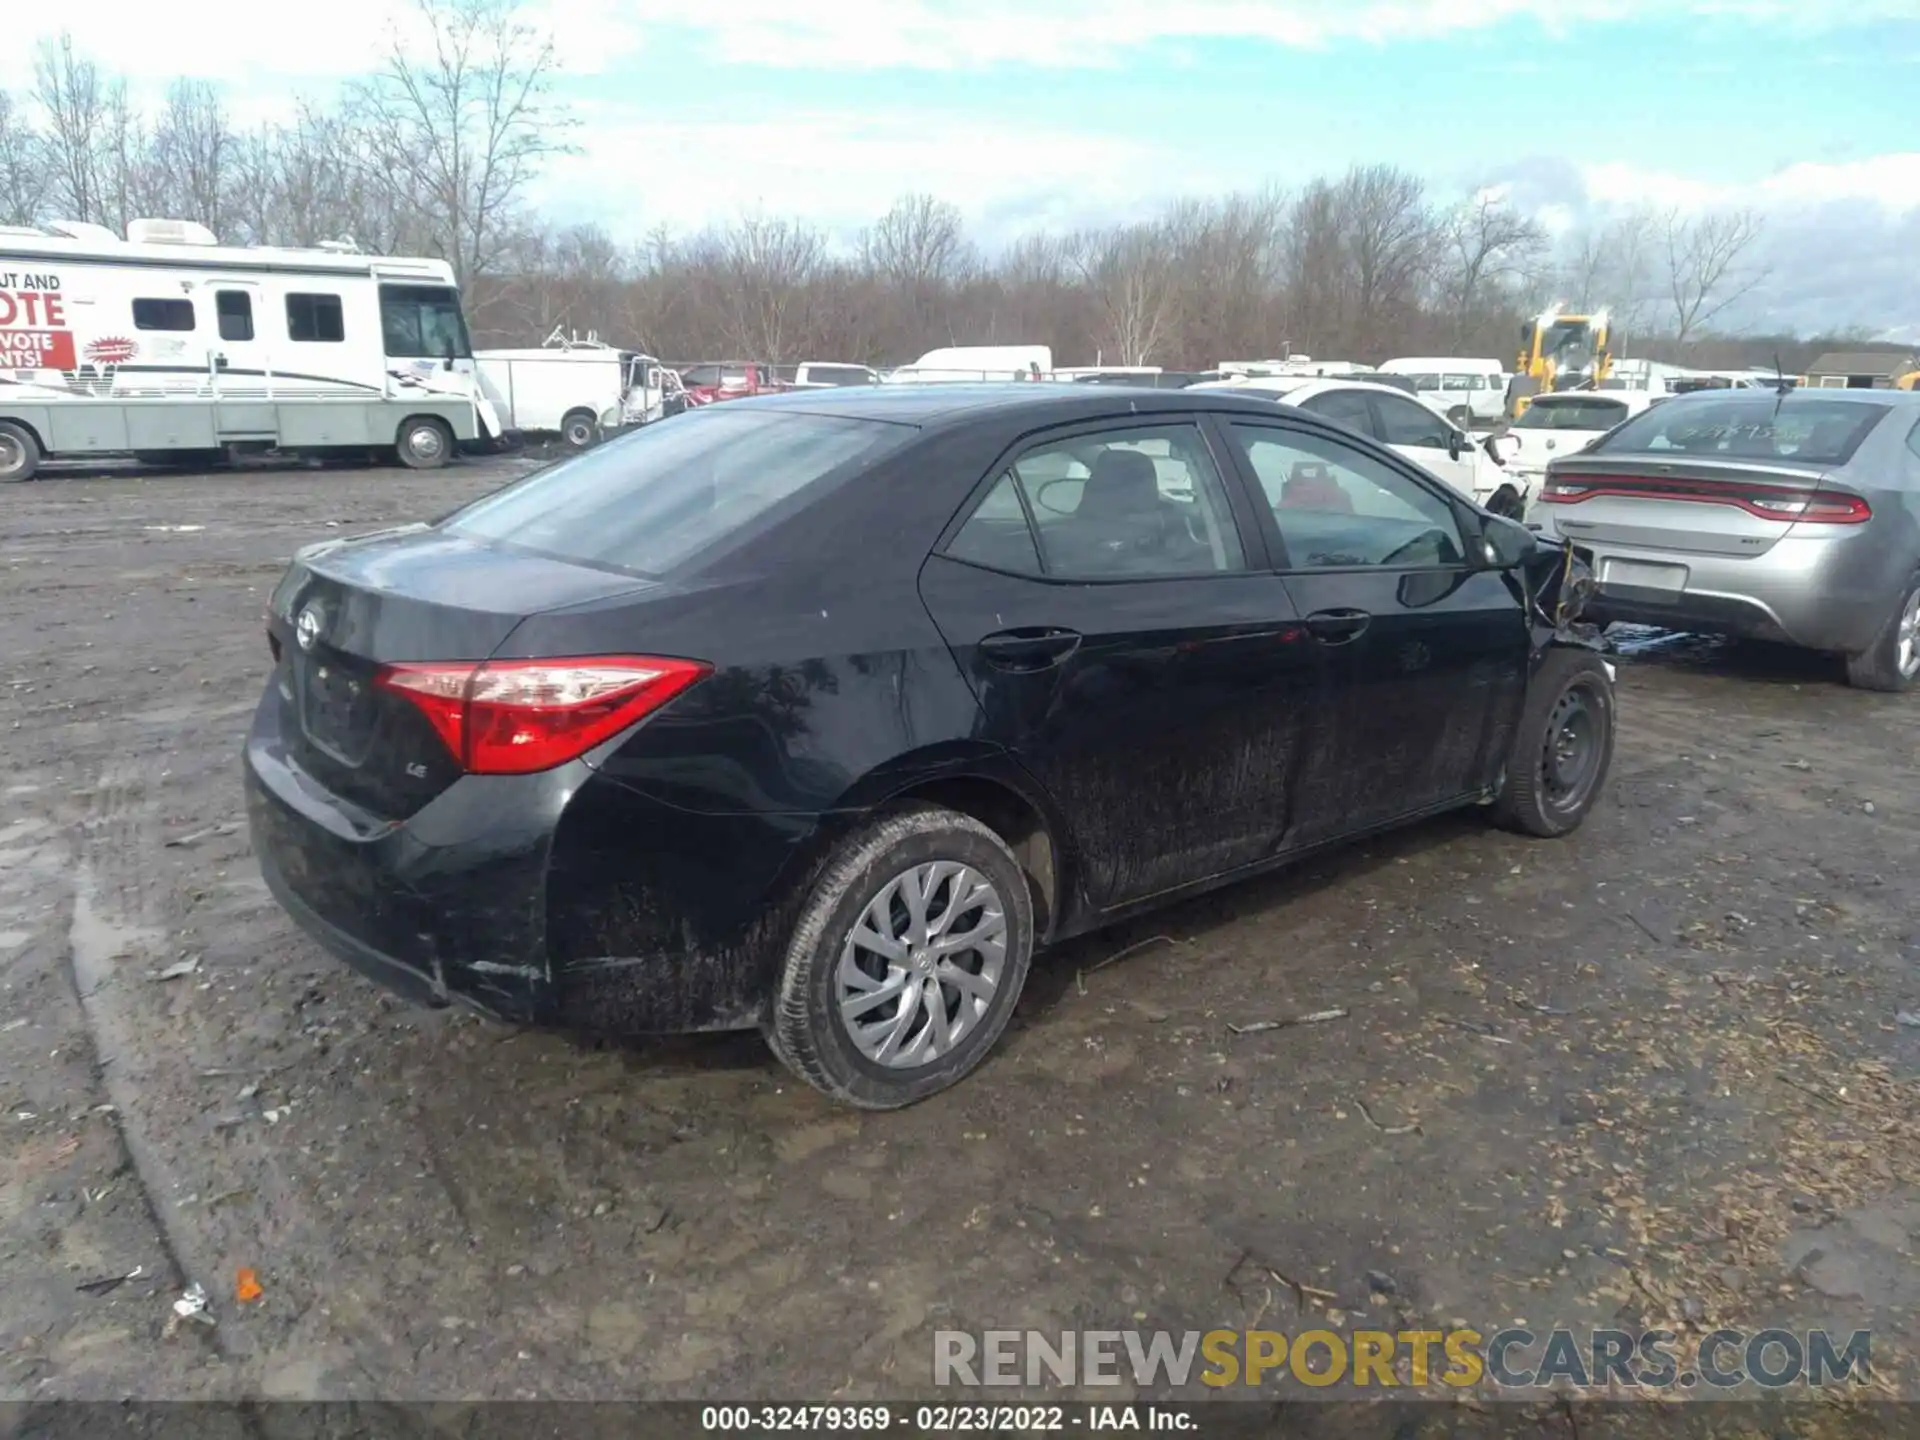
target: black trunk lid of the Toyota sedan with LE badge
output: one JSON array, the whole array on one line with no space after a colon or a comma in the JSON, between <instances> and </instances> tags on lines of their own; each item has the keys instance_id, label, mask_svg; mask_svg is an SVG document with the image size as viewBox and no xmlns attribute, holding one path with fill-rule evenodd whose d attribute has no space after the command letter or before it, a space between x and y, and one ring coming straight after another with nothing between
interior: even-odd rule
<instances>
[{"instance_id":1,"label":"black trunk lid of the Toyota sedan with LE badge","mask_svg":"<svg viewBox=\"0 0 1920 1440\"><path fill-rule=\"evenodd\" d=\"M413 526L300 551L267 630L288 755L334 795L403 820L461 776L386 664L472 660L528 614L649 589L628 574Z\"/></svg>"}]
</instances>

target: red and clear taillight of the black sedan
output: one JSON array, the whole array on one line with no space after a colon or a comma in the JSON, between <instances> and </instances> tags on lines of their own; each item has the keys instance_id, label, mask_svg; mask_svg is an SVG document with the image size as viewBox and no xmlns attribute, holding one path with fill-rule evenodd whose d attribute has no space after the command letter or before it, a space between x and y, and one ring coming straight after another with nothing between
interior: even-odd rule
<instances>
[{"instance_id":1,"label":"red and clear taillight of the black sedan","mask_svg":"<svg viewBox=\"0 0 1920 1440\"><path fill-rule=\"evenodd\" d=\"M586 755L710 670L699 660L595 655L390 664L378 684L411 701L468 774L528 776Z\"/></svg>"}]
</instances>

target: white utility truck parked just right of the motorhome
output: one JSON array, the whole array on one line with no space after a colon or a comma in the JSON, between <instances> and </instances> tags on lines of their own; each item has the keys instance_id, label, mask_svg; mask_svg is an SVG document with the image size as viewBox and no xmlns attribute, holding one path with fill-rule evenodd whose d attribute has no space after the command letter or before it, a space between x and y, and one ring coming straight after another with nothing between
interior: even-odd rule
<instances>
[{"instance_id":1,"label":"white utility truck parked just right of the motorhome","mask_svg":"<svg viewBox=\"0 0 1920 1440\"><path fill-rule=\"evenodd\" d=\"M685 407L676 371L593 334L578 340L555 330L534 349L482 349L474 361L482 394L509 434L555 434L568 449Z\"/></svg>"}]
</instances>

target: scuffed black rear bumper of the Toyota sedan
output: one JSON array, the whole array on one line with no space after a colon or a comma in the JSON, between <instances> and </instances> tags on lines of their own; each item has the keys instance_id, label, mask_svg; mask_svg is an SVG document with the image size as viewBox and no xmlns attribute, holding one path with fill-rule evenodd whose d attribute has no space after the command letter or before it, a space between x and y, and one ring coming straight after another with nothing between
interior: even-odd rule
<instances>
[{"instance_id":1,"label":"scuffed black rear bumper of the Toyota sedan","mask_svg":"<svg viewBox=\"0 0 1920 1440\"><path fill-rule=\"evenodd\" d=\"M814 822L685 814L578 760L467 776L382 822L300 768L276 708L255 714L242 764L253 854L353 970L417 1004L568 1031L762 1016L789 929L781 879Z\"/></svg>"}]
</instances>

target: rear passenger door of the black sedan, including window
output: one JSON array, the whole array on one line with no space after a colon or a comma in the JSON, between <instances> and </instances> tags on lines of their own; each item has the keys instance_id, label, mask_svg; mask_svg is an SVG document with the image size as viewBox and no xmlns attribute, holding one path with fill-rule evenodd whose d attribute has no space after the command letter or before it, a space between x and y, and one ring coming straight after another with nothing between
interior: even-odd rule
<instances>
[{"instance_id":1,"label":"rear passenger door of the black sedan, including window","mask_svg":"<svg viewBox=\"0 0 1920 1440\"><path fill-rule=\"evenodd\" d=\"M1271 852L1319 672L1198 426L1033 440L920 591L1094 908Z\"/></svg>"}]
</instances>

